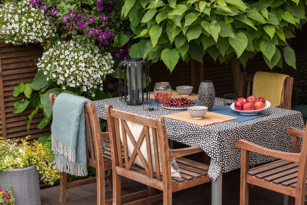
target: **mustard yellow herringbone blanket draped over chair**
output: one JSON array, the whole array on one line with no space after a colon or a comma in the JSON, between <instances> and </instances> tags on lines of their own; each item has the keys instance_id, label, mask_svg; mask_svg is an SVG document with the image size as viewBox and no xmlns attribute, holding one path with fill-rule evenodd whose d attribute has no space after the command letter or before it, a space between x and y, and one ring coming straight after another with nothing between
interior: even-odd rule
<instances>
[{"instance_id":1,"label":"mustard yellow herringbone blanket draped over chair","mask_svg":"<svg viewBox=\"0 0 307 205\"><path fill-rule=\"evenodd\" d=\"M276 107L284 100L284 81L288 75L279 73L257 72L253 81L253 96L263 97Z\"/></svg>"}]
</instances>

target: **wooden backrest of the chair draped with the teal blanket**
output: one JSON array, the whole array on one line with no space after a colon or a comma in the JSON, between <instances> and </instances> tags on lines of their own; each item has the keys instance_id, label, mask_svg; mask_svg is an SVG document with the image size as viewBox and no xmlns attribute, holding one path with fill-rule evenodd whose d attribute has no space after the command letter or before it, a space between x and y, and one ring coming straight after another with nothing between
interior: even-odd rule
<instances>
[{"instance_id":1,"label":"wooden backrest of the chair draped with the teal blanket","mask_svg":"<svg viewBox=\"0 0 307 205\"><path fill-rule=\"evenodd\" d=\"M49 95L51 106L53 107L54 101L56 99L56 94L51 93ZM87 152L87 164L91 167L96 168L95 163L95 149L94 149L94 142L93 137L94 135L98 135L99 138L102 140L109 139L108 132L101 132L100 131L100 125L99 125L99 119L96 111L95 104L93 102L89 102L84 105L84 112L85 112L85 121L86 121L86 132L88 139L86 140L86 152ZM102 147L102 142L100 140L100 147ZM97 152L101 152L102 155L102 149L97 150Z\"/></svg>"}]
</instances>

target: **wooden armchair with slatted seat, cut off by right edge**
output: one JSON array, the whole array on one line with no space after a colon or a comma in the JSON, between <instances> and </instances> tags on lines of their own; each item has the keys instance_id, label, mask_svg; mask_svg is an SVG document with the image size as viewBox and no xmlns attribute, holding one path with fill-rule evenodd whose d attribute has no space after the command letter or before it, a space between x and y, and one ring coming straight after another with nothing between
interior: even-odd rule
<instances>
[{"instance_id":1,"label":"wooden armchair with slatted seat, cut off by right edge","mask_svg":"<svg viewBox=\"0 0 307 205\"><path fill-rule=\"evenodd\" d=\"M307 129L304 132L290 127L286 129L286 132L291 135L291 152L280 152L246 140L236 140L235 146L241 149L240 205L248 204L249 184L289 195L288 204L293 203L293 197L295 205L304 204L307 194ZM303 143L299 154L300 137L303 138ZM273 156L280 160L250 169L250 152Z\"/></svg>"}]
</instances>

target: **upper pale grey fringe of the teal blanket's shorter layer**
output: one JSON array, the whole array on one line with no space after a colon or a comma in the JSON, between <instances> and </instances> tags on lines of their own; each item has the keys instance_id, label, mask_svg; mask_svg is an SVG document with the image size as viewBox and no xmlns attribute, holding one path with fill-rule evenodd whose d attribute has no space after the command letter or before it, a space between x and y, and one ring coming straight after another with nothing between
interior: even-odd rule
<instances>
[{"instance_id":1,"label":"upper pale grey fringe of the teal blanket's shorter layer","mask_svg":"<svg viewBox=\"0 0 307 205\"><path fill-rule=\"evenodd\" d=\"M55 138L51 138L52 148L54 154L61 155L68 159L71 162L76 161L76 149L71 149L68 144L57 140Z\"/></svg>"}]
</instances>

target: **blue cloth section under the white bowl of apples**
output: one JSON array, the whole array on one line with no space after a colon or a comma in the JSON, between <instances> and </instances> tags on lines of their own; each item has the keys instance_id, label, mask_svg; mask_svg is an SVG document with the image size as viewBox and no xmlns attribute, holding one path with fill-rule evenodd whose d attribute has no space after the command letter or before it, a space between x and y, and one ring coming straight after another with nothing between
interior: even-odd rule
<instances>
[{"instance_id":1,"label":"blue cloth section under the white bowl of apples","mask_svg":"<svg viewBox=\"0 0 307 205\"><path fill-rule=\"evenodd\" d=\"M269 114L258 113L256 115L241 115L239 112L234 111L230 107L221 106L221 105L217 105L217 104L213 105L211 112L216 112L216 113L220 113L220 114L223 114L223 115L229 115L229 116L237 117L238 119L230 120L230 121L235 121L235 122L244 122L244 121L252 120L252 119L255 119L255 118L258 118L258 117L270 115L270 113Z\"/></svg>"}]
</instances>

